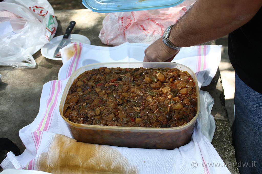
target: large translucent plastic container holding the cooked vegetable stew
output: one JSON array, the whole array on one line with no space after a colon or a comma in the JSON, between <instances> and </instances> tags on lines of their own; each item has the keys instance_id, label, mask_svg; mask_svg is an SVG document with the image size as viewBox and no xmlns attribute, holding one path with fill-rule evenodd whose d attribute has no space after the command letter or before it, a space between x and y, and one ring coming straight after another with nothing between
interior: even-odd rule
<instances>
[{"instance_id":1,"label":"large translucent plastic container holding the cooked vegetable stew","mask_svg":"<svg viewBox=\"0 0 262 174\"><path fill-rule=\"evenodd\" d=\"M187 71L194 79L197 94L197 113L193 120L179 127L118 127L99 126L73 123L63 115L65 99L70 86L75 78L87 70L99 67L121 67L121 68L178 68ZM183 146L191 140L196 118L199 114L199 89L195 73L188 67L179 63L169 62L122 62L122 63L94 63L83 66L75 71L65 86L59 112L66 121L73 137L80 142L103 144L119 147L147 148L147 149L175 149Z\"/></svg>"}]
</instances>

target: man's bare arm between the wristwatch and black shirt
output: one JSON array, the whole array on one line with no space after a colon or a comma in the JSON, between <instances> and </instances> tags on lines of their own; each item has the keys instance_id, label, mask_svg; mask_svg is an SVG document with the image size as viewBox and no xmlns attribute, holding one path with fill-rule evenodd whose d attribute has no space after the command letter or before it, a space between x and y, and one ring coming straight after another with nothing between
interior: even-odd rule
<instances>
[{"instance_id":1,"label":"man's bare arm between the wristwatch and black shirt","mask_svg":"<svg viewBox=\"0 0 262 174\"><path fill-rule=\"evenodd\" d=\"M225 36L247 23L262 0L197 0L175 24L170 40L178 47L190 47Z\"/></svg>"}]
</instances>

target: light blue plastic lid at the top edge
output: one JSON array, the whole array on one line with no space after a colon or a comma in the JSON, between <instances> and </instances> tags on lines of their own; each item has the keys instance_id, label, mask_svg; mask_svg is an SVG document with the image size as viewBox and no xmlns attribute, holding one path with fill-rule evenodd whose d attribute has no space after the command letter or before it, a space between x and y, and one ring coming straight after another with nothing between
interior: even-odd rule
<instances>
[{"instance_id":1,"label":"light blue plastic lid at the top edge","mask_svg":"<svg viewBox=\"0 0 262 174\"><path fill-rule=\"evenodd\" d=\"M184 0L82 0L83 5L98 13L122 11L152 10L168 8L182 3Z\"/></svg>"}]
</instances>

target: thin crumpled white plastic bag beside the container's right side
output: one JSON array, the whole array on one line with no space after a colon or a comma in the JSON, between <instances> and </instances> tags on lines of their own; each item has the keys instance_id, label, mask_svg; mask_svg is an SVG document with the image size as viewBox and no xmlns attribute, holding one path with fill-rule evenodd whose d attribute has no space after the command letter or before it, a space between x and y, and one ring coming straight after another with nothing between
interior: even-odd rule
<instances>
[{"instance_id":1,"label":"thin crumpled white plastic bag beside the container's right side","mask_svg":"<svg viewBox=\"0 0 262 174\"><path fill-rule=\"evenodd\" d=\"M201 125L201 132L211 142L215 133L216 123L213 115L211 114L214 105L214 99L209 92L199 91L200 110L198 121Z\"/></svg>"}]
</instances>

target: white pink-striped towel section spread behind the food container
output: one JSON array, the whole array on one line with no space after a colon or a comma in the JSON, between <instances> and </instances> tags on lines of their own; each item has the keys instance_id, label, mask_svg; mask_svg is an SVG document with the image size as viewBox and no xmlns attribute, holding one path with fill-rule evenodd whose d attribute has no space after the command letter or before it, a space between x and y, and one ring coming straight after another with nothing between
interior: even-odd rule
<instances>
[{"instance_id":1,"label":"white pink-striped towel section spread behind the food container","mask_svg":"<svg viewBox=\"0 0 262 174\"><path fill-rule=\"evenodd\" d=\"M91 63L143 62L144 51L148 46L149 44L142 43L124 43L116 47L69 44L61 49L63 66L59 70L58 79L64 80L76 69ZM216 74L220 59L221 45L198 45L182 48L172 62L181 63L192 69L201 87L210 84Z\"/></svg>"}]
</instances>

